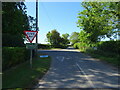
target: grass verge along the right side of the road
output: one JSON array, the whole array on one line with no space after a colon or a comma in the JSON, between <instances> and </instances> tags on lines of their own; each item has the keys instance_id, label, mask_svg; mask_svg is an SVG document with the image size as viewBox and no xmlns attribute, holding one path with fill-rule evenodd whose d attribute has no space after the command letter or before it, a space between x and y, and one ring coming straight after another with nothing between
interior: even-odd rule
<instances>
[{"instance_id":1,"label":"grass verge along the right side of the road","mask_svg":"<svg viewBox=\"0 0 120 90\"><path fill-rule=\"evenodd\" d=\"M120 67L119 54L98 51L98 50L92 50L92 49L86 50L85 53L91 55L93 58L98 58L102 61L105 61L105 62L107 62L115 67Z\"/></svg>"}]
</instances>

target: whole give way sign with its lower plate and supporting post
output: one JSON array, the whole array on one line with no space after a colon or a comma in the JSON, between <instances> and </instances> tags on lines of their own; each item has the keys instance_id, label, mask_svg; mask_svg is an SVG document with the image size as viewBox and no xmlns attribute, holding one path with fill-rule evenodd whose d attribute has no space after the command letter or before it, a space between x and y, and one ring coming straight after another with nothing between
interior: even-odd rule
<instances>
[{"instance_id":1,"label":"whole give way sign with its lower plate and supporting post","mask_svg":"<svg viewBox=\"0 0 120 90\"><path fill-rule=\"evenodd\" d=\"M30 49L30 67L32 68L32 50L37 47L37 44L32 43L32 41L34 40L38 32L37 31L24 31L24 33L30 42L30 43L26 43L26 48Z\"/></svg>"}]
</instances>

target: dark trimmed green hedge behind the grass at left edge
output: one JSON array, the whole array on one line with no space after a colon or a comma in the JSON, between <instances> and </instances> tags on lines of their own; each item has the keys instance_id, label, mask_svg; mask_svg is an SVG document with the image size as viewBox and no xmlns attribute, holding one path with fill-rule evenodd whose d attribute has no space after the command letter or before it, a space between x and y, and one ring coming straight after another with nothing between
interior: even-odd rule
<instances>
[{"instance_id":1,"label":"dark trimmed green hedge behind the grass at left edge","mask_svg":"<svg viewBox=\"0 0 120 90\"><path fill-rule=\"evenodd\" d=\"M8 69L29 60L29 50L25 47L3 47L2 48L2 69Z\"/></svg>"}]
</instances>

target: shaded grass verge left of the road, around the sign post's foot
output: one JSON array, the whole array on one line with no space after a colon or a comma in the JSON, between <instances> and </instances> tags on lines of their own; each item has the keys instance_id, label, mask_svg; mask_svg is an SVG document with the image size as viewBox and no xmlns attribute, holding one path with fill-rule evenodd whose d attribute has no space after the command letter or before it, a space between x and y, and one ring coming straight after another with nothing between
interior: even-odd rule
<instances>
[{"instance_id":1,"label":"shaded grass verge left of the road, around the sign post's foot","mask_svg":"<svg viewBox=\"0 0 120 90\"><path fill-rule=\"evenodd\" d=\"M40 58L39 54L33 58L33 68L29 61L11 68L2 75L2 88L32 88L48 71L51 58Z\"/></svg>"}]
</instances>

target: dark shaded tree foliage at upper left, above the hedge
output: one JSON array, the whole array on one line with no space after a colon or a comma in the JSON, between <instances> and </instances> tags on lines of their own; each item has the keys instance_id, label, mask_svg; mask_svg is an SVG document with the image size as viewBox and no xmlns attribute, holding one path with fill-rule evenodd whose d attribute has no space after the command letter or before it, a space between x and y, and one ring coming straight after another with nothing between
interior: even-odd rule
<instances>
[{"instance_id":1,"label":"dark shaded tree foliage at upper left, above the hedge","mask_svg":"<svg viewBox=\"0 0 120 90\"><path fill-rule=\"evenodd\" d=\"M25 37L23 31L32 30L34 28L35 19L31 16L27 16L26 5L24 2L2 3L2 33L9 34L9 36L11 35L10 38L12 38L13 35L16 35L16 40L18 38L20 40L21 38L20 41L18 40L18 43L23 43L24 41L22 39ZM6 39L4 36L2 38L3 40ZM10 39L6 39L6 42L10 42ZM5 45L6 44L7 43L5 43Z\"/></svg>"}]
</instances>

